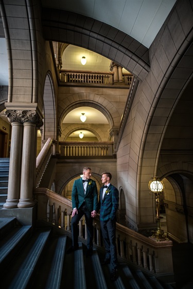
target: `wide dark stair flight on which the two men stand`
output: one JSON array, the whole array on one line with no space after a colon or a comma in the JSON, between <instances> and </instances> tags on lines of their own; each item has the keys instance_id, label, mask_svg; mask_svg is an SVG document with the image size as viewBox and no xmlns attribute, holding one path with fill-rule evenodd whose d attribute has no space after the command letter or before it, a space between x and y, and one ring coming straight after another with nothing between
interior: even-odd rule
<instances>
[{"instance_id":1,"label":"wide dark stair flight on which the two men stand","mask_svg":"<svg viewBox=\"0 0 193 289\"><path fill-rule=\"evenodd\" d=\"M95 248L86 258L86 246L79 242L76 252L65 254L71 238L70 233L63 234L51 227L32 229L16 218L0 218L1 288L173 288L125 262L119 262L119 277L112 282L110 266L100 264L104 252Z\"/></svg>"}]
</instances>

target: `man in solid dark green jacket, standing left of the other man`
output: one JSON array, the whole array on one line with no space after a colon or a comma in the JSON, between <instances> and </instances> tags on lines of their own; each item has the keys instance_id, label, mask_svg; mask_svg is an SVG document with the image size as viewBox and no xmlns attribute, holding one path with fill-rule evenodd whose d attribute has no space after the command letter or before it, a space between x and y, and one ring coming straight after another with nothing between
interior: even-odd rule
<instances>
[{"instance_id":1,"label":"man in solid dark green jacket, standing left of the other man","mask_svg":"<svg viewBox=\"0 0 193 289\"><path fill-rule=\"evenodd\" d=\"M85 216L87 230L87 252L86 256L93 253L93 218L97 213L98 194L96 182L91 180L91 168L83 168L83 177L75 180L72 190L73 213L71 231L73 237L72 247L67 253L78 249L78 223L82 216Z\"/></svg>"}]
</instances>

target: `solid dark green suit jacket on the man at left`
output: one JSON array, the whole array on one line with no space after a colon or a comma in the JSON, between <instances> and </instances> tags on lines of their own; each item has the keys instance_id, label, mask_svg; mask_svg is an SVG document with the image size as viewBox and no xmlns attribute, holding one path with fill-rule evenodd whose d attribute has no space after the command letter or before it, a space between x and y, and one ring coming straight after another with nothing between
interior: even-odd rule
<instances>
[{"instance_id":1,"label":"solid dark green suit jacket on the man at left","mask_svg":"<svg viewBox=\"0 0 193 289\"><path fill-rule=\"evenodd\" d=\"M84 194L82 178L80 178L76 180L73 184L72 190L73 209L74 208L78 209L84 201L88 211L92 212L93 210L97 210L98 194L96 182L89 179L86 192Z\"/></svg>"}]
</instances>

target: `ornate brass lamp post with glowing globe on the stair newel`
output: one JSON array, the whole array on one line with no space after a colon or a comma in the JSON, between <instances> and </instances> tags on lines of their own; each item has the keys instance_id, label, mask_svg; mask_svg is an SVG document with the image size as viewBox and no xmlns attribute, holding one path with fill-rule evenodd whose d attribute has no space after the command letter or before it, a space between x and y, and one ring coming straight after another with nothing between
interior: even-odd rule
<instances>
[{"instance_id":1,"label":"ornate brass lamp post with glowing globe on the stair newel","mask_svg":"<svg viewBox=\"0 0 193 289\"><path fill-rule=\"evenodd\" d=\"M160 216L160 200L159 196L164 190L164 183L160 181L160 179L156 176L151 178L148 184L149 189L153 194L155 195L155 202L156 202L156 220L157 220L157 230L152 231L153 235L152 238L156 238L155 241L159 241L160 239L165 238L166 241L168 241L167 233L164 233L164 231L161 229L160 220L163 219L163 217Z\"/></svg>"}]
</instances>

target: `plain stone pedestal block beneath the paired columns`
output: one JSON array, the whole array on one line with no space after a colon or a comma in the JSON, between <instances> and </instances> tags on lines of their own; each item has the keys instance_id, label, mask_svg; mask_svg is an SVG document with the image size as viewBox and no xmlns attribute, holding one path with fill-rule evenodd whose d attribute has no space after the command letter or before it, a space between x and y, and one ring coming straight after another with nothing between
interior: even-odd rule
<instances>
[{"instance_id":1,"label":"plain stone pedestal block beneath the paired columns","mask_svg":"<svg viewBox=\"0 0 193 289\"><path fill-rule=\"evenodd\" d=\"M15 217L22 225L36 225L37 205L32 208L13 208L0 210L0 218Z\"/></svg>"}]
</instances>

